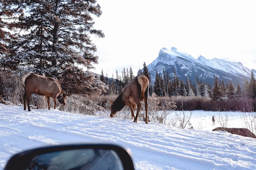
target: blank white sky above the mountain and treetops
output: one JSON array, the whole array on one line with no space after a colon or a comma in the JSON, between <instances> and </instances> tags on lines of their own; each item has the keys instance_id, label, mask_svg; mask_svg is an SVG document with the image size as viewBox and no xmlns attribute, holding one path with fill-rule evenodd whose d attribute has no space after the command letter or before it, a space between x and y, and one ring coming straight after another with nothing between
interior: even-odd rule
<instances>
[{"instance_id":1,"label":"blank white sky above the mountain and treetops","mask_svg":"<svg viewBox=\"0 0 256 170\"><path fill-rule=\"evenodd\" d=\"M219 58L256 69L255 0L97 0L102 15L91 37L99 64L91 71L116 77L123 68L152 63L176 47L197 59Z\"/></svg>"}]
</instances>

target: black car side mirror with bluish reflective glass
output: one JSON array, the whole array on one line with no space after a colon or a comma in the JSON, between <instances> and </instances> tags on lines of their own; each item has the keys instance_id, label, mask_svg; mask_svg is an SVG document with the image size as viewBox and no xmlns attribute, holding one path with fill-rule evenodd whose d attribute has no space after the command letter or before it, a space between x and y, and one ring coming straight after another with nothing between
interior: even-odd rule
<instances>
[{"instance_id":1,"label":"black car side mirror with bluish reflective glass","mask_svg":"<svg viewBox=\"0 0 256 170\"><path fill-rule=\"evenodd\" d=\"M129 152L114 144L53 145L13 155L4 170L134 170Z\"/></svg>"}]
</instances>

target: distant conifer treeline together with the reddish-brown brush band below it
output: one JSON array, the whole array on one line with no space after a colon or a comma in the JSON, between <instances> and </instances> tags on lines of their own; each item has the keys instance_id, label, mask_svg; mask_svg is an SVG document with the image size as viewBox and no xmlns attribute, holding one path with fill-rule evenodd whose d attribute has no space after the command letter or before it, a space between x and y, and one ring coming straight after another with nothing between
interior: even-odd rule
<instances>
[{"instance_id":1,"label":"distant conifer treeline together with the reddish-brown brush band below it","mask_svg":"<svg viewBox=\"0 0 256 170\"><path fill-rule=\"evenodd\" d=\"M235 86L232 81L225 83L217 76L213 86L198 78L196 84L192 84L189 79L183 82L176 76L175 70L172 74L173 77L169 76L170 74L166 73L165 70L162 73L156 72L155 82L152 83L145 63L142 71L139 71L138 74L144 74L148 77L150 95L154 94L163 97L164 100L175 101L178 110L254 111L256 108L256 78L253 71L251 71L250 82L245 81L242 86L239 84ZM116 71L115 78L104 76L102 70L101 81L109 87L104 94L118 95L133 77L132 68L123 68L121 76ZM161 101L161 99L159 100Z\"/></svg>"}]
</instances>

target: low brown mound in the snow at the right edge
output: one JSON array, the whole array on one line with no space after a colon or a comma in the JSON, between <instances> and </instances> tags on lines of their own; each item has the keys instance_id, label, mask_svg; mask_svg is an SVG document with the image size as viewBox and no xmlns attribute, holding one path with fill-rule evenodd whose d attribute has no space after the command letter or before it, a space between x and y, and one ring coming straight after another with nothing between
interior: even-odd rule
<instances>
[{"instance_id":1,"label":"low brown mound in the snow at the right edge","mask_svg":"<svg viewBox=\"0 0 256 170\"><path fill-rule=\"evenodd\" d=\"M253 137L256 138L256 136L247 128L228 128L228 127L217 127L213 129L212 131L226 131L231 134L240 135L240 136L246 136L246 137Z\"/></svg>"}]
</instances>

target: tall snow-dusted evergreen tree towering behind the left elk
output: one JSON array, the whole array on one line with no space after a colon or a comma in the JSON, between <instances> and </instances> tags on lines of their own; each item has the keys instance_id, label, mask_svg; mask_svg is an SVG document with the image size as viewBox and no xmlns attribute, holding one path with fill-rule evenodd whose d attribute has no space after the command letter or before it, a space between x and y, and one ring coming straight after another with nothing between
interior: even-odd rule
<instances>
[{"instance_id":1,"label":"tall snow-dusted evergreen tree towering behind the left elk","mask_svg":"<svg viewBox=\"0 0 256 170\"><path fill-rule=\"evenodd\" d=\"M69 91L71 86L79 93L95 90L82 85L97 78L82 68L91 69L92 63L98 63L98 56L93 54L97 49L90 36L104 37L101 30L93 29L92 16L101 16L96 1L8 0L6 3L4 11L20 11L16 13L18 19L9 22L10 31L19 30L23 34L9 42L11 52L1 60L2 65L11 66L13 71L56 77ZM70 71L75 79L70 79ZM97 85L99 89L101 86L102 83Z\"/></svg>"}]
</instances>

